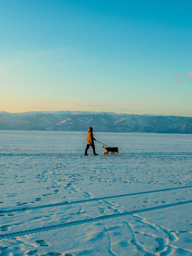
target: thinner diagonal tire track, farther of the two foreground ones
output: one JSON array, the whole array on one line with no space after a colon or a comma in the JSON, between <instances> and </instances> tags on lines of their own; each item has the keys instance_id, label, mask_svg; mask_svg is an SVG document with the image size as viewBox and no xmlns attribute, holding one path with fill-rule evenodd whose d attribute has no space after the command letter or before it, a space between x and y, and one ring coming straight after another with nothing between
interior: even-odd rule
<instances>
[{"instance_id":1,"label":"thinner diagonal tire track, farther of the two foreground ones","mask_svg":"<svg viewBox=\"0 0 192 256\"><path fill-rule=\"evenodd\" d=\"M87 203L87 202L91 202L91 201L99 201L99 200L105 200L105 199L111 199L111 198L128 197L128 196L135 196L135 195L142 195L142 194L151 194L151 193L171 191L171 190L183 189L183 188L192 188L192 185L177 187L177 188L164 188L164 189L159 189L159 190L144 191L144 192L137 192L137 193L131 193L131 194L121 194L121 195L114 195L114 196L108 196L108 197L97 197L97 198L78 200L78 201L73 201L73 202L61 202L61 203L52 203L52 204L45 204L45 205L10 209L10 210L0 210L0 213L21 212L21 211L28 211L28 210L41 209L41 208L49 208L49 207L69 205L69 204Z\"/></svg>"}]
</instances>

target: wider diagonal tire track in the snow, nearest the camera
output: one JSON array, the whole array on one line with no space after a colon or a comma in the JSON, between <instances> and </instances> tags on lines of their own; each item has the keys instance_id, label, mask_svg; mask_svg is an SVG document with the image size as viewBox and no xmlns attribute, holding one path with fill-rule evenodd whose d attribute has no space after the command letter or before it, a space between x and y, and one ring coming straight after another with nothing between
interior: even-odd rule
<instances>
[{"instance_id":1,"label":"wider diagonal tire track in the snow, nearest the camera","mask_svg":"<svg viewBox=\"0 0 192 256\"><path fill-rule=\"evenodd\" d=\"M181 205L185 205L185 204L189 204L189 203L192 203L192 200L178 202L178 203L170 203L167 205L155 206L155 207L146 208L146 209L139 209L139 210L134 210L134 211L130 211L130 212L122 212L122 213L103 215L103 216L99 216L96 218L88 218L88 219L79 220L79 221L70 221L70 222L51 225L51 226L38 227L38 228L33 228L33 229L28 229L28 230L17 231L17 232L13 232L13 233L1 234L0 240L6 239L6 238L14 238L16 236L25 236L25 235L34 234L34 233L55 230L55 229L64 228L64 227L72 227L72 226L77 226L77 225L81 225L81 224L88 224L91 222L113 219L113 218L133 215L133 214L137 214L137 213L142 213L142 212L150 212L150 211L155 211L155 210L159 210L159 209L166 209L166 208L170 208L170 207L174 207L174 206L181 206Z\"/></svg>"}]
</instances>

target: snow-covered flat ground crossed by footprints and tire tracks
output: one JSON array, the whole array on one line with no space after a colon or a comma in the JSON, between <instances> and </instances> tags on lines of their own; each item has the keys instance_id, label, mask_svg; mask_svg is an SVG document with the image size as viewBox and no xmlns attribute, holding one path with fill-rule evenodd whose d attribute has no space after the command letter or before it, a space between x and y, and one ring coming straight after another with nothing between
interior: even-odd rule
<instances>
[{"instance_id":1,"label":"snow-covered flat ground crossed by footprints and tire tracks","mask_svg":"<svg viewBox=\"0 0 192 256\"><path fill-rule=\"evenodd\" d=\"M190 134L0 131L0 255L192 255Z\"/></svg>"}]
</instances>

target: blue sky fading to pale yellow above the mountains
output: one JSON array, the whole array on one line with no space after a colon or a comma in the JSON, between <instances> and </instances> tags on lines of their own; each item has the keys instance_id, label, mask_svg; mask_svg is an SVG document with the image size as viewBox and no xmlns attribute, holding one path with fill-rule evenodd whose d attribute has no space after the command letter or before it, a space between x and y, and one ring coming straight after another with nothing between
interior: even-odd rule
<instances>
[{"instance_id":1,"label":"blue sky fading to pale yellow above the mountains","mask_svg":"<svg viewBox=\"0 0 192 256\"><path fill-rule=\"evenodd\" d=\"M1 0L0 111L192 116L191 13L191 0Z\"/></svg>"}]
</instances>

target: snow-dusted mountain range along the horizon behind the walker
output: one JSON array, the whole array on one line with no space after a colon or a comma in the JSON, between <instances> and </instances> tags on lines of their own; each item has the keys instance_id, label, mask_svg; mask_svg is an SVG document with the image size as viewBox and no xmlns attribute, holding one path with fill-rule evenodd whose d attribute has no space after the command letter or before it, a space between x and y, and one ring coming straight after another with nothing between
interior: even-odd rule
<instances>
[{"instance_id":1,"label":"snow-dusted mountain range along the horizon behind the walker","mask_svg":"<svg viewBox=\"0 0 192 256\"><path fill-rule=\"evenodd\" d=\"M133 115L113 112L0 112L0 130L155 132L192 134L192 117Z\"/></svg>"}]
</instances>

